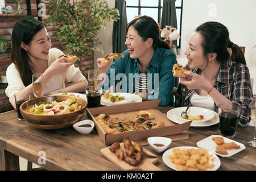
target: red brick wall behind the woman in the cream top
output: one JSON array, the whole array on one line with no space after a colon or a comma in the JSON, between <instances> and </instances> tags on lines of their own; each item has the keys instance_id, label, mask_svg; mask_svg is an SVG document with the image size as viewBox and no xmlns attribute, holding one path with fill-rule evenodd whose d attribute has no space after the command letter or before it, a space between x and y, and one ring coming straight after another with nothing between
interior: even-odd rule
<instances>
[{"instance_id":1,"label":"red brick wall behind the woman in the cream top","mask_svg":"<svg viewBox=\"0 0 256 182\"><path fill-rule=\"evenodd\" d=\"M26 0L20 0L24 9L24 15L27 15ZM41 2L44 2L41 0ZM46 3L46 2L44 2ZM13 9L16 9L15 0L6 0L6 6L11 5ZM36 0L31 0L31 14L37 18ZM48 18L48 10L46 9L46 16L42 17L43 23L46 24ZM0 54L0 76L6 75L6 69L11 64L11 32L13 31L14 24L24 16L0 16L0 36L6 38L9 43L9 47L5 54ZM46 25L47 31L52 39L52 47L59 48L61 51L65 50L65 45L57 41L55 35L57 34L57 28L59 26ZM90 43L93 46L93 43ZM78 67L78 65L75 65ZM88 70L94 69L94 53L92 55L85 55L81 57L81 72L87 78ZM11 110L13 107L10 105L9 98L5 95L5 88L7 85L0 84L0 113Z\"/></svg>"}]
</instances>

